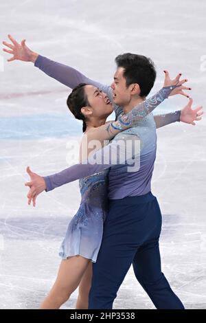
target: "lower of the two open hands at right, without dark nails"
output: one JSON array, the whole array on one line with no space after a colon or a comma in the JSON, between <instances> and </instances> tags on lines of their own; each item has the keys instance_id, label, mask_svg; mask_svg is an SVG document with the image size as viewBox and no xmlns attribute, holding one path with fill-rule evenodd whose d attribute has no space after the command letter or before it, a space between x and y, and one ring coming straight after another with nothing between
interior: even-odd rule
<instances>
[{"instance_id":1,"label":"lower of the two open hands at right, without dark nails","mask_svg":"<svg viewBox=\"0 0 206 323\"><path fill-rule=\"evenodd\" d=\"M187 103L187 105L181 110L180 121L185 122L186 124L192 124L195 126L194 121L199 121L202 119L201 115L203 115L203 107L199 106L196 109L192 110L192 98Z\"/></svg>"}]
</instances>

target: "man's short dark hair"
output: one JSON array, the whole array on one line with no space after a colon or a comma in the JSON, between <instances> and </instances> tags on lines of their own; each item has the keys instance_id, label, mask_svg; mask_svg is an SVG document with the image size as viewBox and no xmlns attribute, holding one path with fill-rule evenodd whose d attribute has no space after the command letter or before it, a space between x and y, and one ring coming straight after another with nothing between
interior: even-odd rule
<instances>
[{"instance_id":1,"label":"man's short dark hair","mask_svg":"<svg viewBox=\"0 0 206 323\"><path fill-rule=\"evenodd\" d=\"M126 87L130 84L138 83L140 96L147 96L152 89L156 70L152 60L143 55L125 53L115 58L117 67L124 67L124 78L126 78Z\"/></svg>"}]
</instances>

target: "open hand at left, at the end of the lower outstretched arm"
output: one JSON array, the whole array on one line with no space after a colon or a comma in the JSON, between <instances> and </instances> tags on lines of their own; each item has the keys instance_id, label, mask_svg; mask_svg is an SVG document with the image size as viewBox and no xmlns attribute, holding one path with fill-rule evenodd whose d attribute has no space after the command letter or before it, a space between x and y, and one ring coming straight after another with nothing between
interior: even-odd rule
<instances>
[{"instance_id":1,"label":"open hand at left, at the end of the lower outstretched arm","mask_svg":"<svg viewBox=\"0 0 206 323\"><path fill-rule=\"evenodd\" d=\"M36 206L37 195L43 192L47 186L43 177L32 172L29 166L27 167L27 173L30 175L30 181L25 183L25 186L29 186L30 188L30 191L27 194L28 204L30 205L31 201L33 201L33 206Z\"/></svg>"}]
</instances>

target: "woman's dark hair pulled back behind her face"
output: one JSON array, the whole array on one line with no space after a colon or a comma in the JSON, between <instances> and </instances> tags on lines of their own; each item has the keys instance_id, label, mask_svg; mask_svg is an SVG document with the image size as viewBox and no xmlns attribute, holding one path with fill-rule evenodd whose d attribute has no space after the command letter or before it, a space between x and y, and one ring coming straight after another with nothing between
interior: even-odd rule
<instances>
[{"instance_id":1,"label":"woman's dark hair pulled back behind her face","mask_svg":"<svg viewBox=\"0 0 206 323\"><path fill-rule=\"evenodd\" d=\"M82 107L89 106L87 95L85 94L84 87L86 83L80 83L77 87L74 87L72 92L67 98L67 107L73 113L76 119L82 120L82 131L86 131L87 124L84 115L81 112Z\"/></svg>"}]
</instances>

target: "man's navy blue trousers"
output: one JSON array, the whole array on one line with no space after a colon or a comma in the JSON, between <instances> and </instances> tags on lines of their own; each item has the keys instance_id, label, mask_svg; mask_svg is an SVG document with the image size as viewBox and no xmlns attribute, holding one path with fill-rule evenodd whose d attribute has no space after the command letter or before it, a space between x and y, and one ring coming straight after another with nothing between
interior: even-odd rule
<instances>
[{"instance_id":1,"label":"man's navy blue trousers","mask_svg":"<svg viewBox=\"0 0 206 323\"><path fill-rule=\"evenodd\" d=\"M161 272L160 233L161 211L151 192L109 201L102 245L97 263L93 263L89 309L112 309L132 264L157 309L184 309Z\"/></svg>"}]
</instances>

